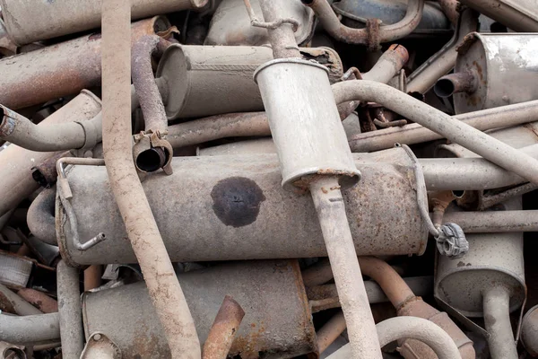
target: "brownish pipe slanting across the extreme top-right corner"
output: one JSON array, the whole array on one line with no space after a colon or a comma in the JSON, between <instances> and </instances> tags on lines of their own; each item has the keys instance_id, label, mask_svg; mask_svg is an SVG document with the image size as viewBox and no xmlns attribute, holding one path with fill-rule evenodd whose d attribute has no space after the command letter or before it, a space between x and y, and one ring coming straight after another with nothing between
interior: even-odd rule
<instances>
[{"instance_id":1,"label":"brownish pipe slanting across the extreme top-right corner","mask_svg":"<svg viewBox=\"0 0 538 359\"><path fill-rule=\"evenodd\" d=\"M460 0L496 22L519 32L538 31L538 13L534 0Z\"/></svg>"}]
</instances>

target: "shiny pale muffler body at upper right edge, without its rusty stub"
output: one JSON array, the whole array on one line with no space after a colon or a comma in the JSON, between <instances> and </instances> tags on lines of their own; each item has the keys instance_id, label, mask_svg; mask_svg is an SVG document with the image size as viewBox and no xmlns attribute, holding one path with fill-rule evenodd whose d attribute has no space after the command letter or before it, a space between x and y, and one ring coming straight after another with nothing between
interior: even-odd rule
<instances>
[{"instance_id":1,"label":"shiny pale muffler body at upper right edge, without its rusty stub","mask_svg":"<svg viewBox=\"0 0 538 359\"><path fill-rule=\"evenodd\" d=\"M458 52L455 72L477 85L454 94L456 114L538 99L538 35L474 32Z\"/></svg>"}]
</instances>

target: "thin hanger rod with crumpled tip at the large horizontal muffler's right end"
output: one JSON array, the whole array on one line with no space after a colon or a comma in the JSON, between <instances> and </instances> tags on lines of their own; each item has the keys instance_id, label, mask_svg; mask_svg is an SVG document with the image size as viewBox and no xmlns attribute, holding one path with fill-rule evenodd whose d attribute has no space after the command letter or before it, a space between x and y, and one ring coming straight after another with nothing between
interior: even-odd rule
<instances>
[{"instance_id":1,"label":"thin hanger rod with crumpled tip at the large horizontal muffler's right end","mask_svg":"<svg viewBox=\"0 0 538 359\"><path fill-rule=\"evenodd\" d=\"M426 181L424 180L421 163L419 163L419 160L407 144L395 144L395 146L404 148L405 153L407 153L412 160L419 212L421 213L422 221L426 223L428 231L437 243L439 253L453 259L463 257L464 254L469 251L469 241L465 238L464 231L456 223L445 223L436 227L433 222L431 222L428 206L424 206L424 203L421 201L421 198L426 196Z\"/></svg>"}]
</instances>

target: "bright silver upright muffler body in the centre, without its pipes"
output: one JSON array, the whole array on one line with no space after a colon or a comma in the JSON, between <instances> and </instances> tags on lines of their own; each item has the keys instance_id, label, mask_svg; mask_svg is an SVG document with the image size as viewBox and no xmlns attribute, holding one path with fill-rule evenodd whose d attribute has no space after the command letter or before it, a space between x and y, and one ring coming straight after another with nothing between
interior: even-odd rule
<instances>
[{"instance_id":1,"label":"bright silver upright muffler body in the centre, without its pipes","mask_svg":"<svg viewBox=\"0 0 538 359\"><path fill-rule=\"evenodd\" d=\"M360 171L325 67L298 58L276 59L260 66L255 80L281 163L282 186L293 189L312 174L342 175L346 185L357 183Z\"/></svg>"}]
</instances>

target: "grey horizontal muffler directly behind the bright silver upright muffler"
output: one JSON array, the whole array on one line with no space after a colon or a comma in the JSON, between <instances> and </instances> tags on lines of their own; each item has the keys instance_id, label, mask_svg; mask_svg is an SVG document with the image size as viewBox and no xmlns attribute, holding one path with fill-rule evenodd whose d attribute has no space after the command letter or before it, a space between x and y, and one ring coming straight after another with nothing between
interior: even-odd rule
<instances>
[{"instance_id":1,"label":"grey horizontal muffler directly behind the bright silver upright muffler","mask_svg":"<svg viewBox=\"0 0 538 359\"><path fill-rule=\"evenodd\" d=\"M243 5L244 6L244 5ZM303 6L304 7L304 6ZM334 81L343 66L331 48L301 48L306 58L319 59ZM172 45L164 53L157 77L167 83L169 119L211 116L264 109L256 68L273 58L266 47Z\"/></svg>"}]
</instances>

